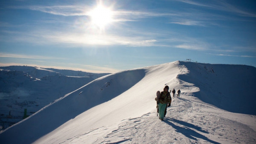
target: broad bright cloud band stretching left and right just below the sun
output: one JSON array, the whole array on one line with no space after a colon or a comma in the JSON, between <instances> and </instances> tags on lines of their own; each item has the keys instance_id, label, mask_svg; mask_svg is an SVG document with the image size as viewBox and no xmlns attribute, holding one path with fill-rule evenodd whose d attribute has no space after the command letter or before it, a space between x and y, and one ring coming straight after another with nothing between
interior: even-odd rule
<instances>
[{"instance_id":1,"label":"broad bright cloud band stretching left and right just below the sun","mask_svg":"<svg viewBox=\"0 0 256 144\"><path fill-rule=\"evenodd\" d=\"M125 30L128 31L128 30ZM100 33L98 30L74 28L71 30L43 30L36 29L26 32L16 31L2 31L7 33L0 41L4 42L25 42L36 45L49 45L49 44L62 44L65 47L76 47L76 46L155 46L158 42L155 39L154 34L148 34L139 31L129 31L127 36L126 32L108 32ZM24 57L24 55L8 55L1 54L2 57ZM30 58L25 56L25 58ZM38 58L38 57L34 57Z\"/></svg>"}]
</instances>

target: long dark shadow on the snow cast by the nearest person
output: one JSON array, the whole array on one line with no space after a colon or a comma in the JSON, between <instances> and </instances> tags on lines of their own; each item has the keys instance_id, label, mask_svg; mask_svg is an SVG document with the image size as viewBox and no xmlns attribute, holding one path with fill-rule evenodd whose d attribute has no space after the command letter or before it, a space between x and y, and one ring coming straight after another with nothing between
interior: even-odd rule
<instances>
[{"instance_id":1,"label":"long dark shadow on the snow cast by the nearest person","mask_svg":"<svg viewBox=\"0 0 256 144\"><path fill-rule=\"evenodd\" d=\"M195 130L191 129L191 128L194 128L194 129L198 130L199 132L208 133L205 130L202 130L201 127L195 126L194 124L187 123L187 122L184 122L184 121L180 121L180 120L177 120L177 119L174 119L174 118L166 118L165 121L163 121L163 122L169 124L171 127L176 129L176 132L185 135L187 138L190 138L190 139L193 139L193 140L197 140L197 138L199 138L199 139L207 140L208 142L213 143L213 144L220 144L218 142L215 142L213 140L208 139L206 136L204 136L204 135L196 132ZM173 122L181 124L184 127L176 126Z\"/></svg>"}]
</instances>

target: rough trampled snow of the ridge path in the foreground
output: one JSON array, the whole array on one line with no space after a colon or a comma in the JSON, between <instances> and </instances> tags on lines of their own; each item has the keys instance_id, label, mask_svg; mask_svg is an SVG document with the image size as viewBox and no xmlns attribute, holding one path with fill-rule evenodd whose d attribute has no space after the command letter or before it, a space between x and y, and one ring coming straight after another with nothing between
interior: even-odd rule
<instances>
[{"instance_id":1,"label":"rough trampled snow of the ridge path in the foreground","mask_svg":"<svg viewBox=\"0 0 256 144\"><path fill-rule=\"evenodd\" d=\"M173 97L172 97L173 98ZM164 121L156 117L155 112L142 117L122 121L111 133L97 138L93 144L255 144L256 132L243 123L242 119L254 121L256 116L237 114L231 119L225 118L223 111L202 102L197 97L181 95L173 98L167 108ZM209 113L211 110L211 113ZM240 117L240 119L238 117ZM237 119L234 121L233 119ZM93 129L89 133L67 140L68 143L86 143L94 134L106 131L107 127Z\"/></svg>"}]
</instances>

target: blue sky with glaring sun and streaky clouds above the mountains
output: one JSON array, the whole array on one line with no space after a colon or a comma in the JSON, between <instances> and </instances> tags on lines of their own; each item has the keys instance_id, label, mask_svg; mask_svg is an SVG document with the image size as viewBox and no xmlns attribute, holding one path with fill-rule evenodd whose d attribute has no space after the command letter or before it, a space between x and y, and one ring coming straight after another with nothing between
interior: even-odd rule
<instances>
[{"instance_id":1,"label":"blue sky with glaring sun and streaky clouds above the mountains","mask_svg":"<svg viewBox=\"0 0 256 144\"><path fill-rule=\"evenodd\" d=\"M254 0L1 0L0 66L256 66Z\"/></svg>"}]
</instances>

